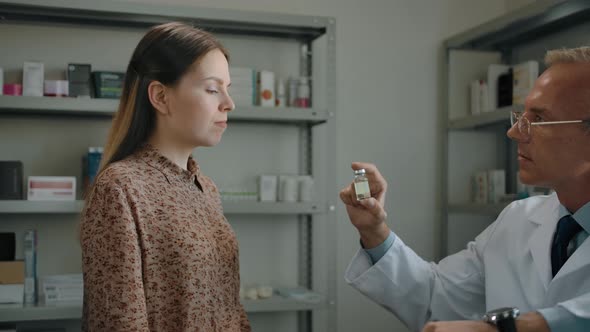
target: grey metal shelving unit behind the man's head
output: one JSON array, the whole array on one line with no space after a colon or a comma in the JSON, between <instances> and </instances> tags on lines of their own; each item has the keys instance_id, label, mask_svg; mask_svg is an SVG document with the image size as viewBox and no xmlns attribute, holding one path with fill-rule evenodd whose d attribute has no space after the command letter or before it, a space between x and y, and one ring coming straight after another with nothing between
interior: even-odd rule
<instances>
[{"instance_id":1,"label":"grey metal shelving unit behind the man's head","mask_svg":"<svg viewBox=\"0 0 590 332\"><path fill-rule=\"evenodd\" d=\"M443 210L446 211L441 228L443 257L449 247L447 241L451 216L467 214L495 218L508 204L473 204L468 199L449 197L468 196L457 194L461 190L469 190L464 177L470 177L472 172L481 170L482 164L487 164L489 168L504 168L507 170L507 185L509 189L513 189L518 166L514 158L516 147L506 138L506 129L509 126L510 111L523 110L523 106L505 107L477 116L469 115L466 83L480 78L490 63L514 64L531 58L542 61L546 49L587 44L585 37L576 40L574 37L557 36L564 36L562 33L565 31L570 34L573 28L585 24L589 19L589 1L540 0L445 41L445 79L448 84L443 93L446 99L444 163L441 169L441 201ZM585 36L583 32L580 34ZM544 41L547 43L543 43ZM497 135L495 140L490 140L492 135ZM478 146L480 143L482 145ZM495 156L490 157L489 153ZM478 158L484 161L474 161ZM491 160L495 161L491 163ZM455 181L461 179L461 188L456 188L457 183L450 183L451 178Z\"/></svg>"}]
</instances>

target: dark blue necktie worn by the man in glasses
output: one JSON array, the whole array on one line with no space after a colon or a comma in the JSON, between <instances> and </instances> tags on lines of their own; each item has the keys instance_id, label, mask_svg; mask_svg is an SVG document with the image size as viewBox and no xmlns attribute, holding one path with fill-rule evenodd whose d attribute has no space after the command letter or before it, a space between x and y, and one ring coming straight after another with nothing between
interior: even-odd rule
<instances>
[{"instance_id":1,"label":"dark blue necktie worn by the man in glasses","mask_svg":"<svg viewBox=\"0 0 590 332\"><path fill-rule=\"evenodd\" d=\"M551 272L553 272L553 277L569 258L567 247L581 230L582 226L571 215L559 219L557 230L553 236L553 244L551 245Z\"/></svg>"}]
</instances>

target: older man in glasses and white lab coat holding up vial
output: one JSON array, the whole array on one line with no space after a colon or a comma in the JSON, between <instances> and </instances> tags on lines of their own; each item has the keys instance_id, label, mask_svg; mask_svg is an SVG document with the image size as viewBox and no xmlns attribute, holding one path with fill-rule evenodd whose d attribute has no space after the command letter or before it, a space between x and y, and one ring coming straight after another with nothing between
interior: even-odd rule
<instances>
[{"instance_id":1,"label":"older man in glasses and white lab coat holding up vial","mask_svg":"<svg viewBox=\"0 0 590 332\"><path fill-rule=\"evenodd\" d=\"M363 246L346 280L414 331L590 331L590 48L545 60L508 136L521 181L555 193L510 204L467 249L422 260L385 223L377 168L352 165L367 170L374 198L356 201L352 185L340 193Z\"/></svg>"}]
</instances>

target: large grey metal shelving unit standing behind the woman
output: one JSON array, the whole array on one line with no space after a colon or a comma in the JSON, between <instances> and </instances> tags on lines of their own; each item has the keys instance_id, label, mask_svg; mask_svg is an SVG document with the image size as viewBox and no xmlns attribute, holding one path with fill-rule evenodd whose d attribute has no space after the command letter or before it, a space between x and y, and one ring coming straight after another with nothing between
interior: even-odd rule
<instances>
[{"instance_id":1,"label":"large grey metal shelving unit standing behind the woman","mask_svg":"<svg viewBox=\"0 0 590 332\"><path fill-rule=\"evenodd\" d=\"M0 0L0 24L117 28L143 31L155 24L183 21L215 34L232 37L271 37L313 46L319 52L309 59L314 108L263 108L237 105L229 121L295 126L303 133L298 145L300 174L321 178L320 192L336 193L333 172L335 149L335 21L330 17L243 12L189 6L154 5L120 1L72 2L68 0ZM314 44L315 43L315 44ZM311 50L311 48L310 48ZM318 56L316 56L318 54ZM39 58L41 61L43 57ZM313 66L312 66L313 64ZM322 83L322 84L320 84ZM316 100L318 102L316 102ZM321 100L321 102L319 102ZM83 118L109 119L118 107L117 100L0 96L0 118L34 119ZM41 120L39 120L41 119ZM68 122L67 125L75 125ZM55 122L52 122L55 123ZM281 127L282 128L282 127ZM318 129L319 128L319 129ZM63 133L64 135L67 133ZM226 214L291 215L298 220L298 267L300 286L321 294L319 303L307 303L275 296L267 300L244 301L248 312L298 313L300 331L335 331L336 326L336 248L333 228L336 223L337 195L326 195L326 201L305 203L261 203L224 201ZM323 198L323 197L322 197ZM77 214L82 201L39 202L0 201L0 216ZM313 224L313 226L312 226ZM311 315L313 312L313 315ZM0 323L76 320L79 306L0 306Z\"/></svg>"}]
</instances>

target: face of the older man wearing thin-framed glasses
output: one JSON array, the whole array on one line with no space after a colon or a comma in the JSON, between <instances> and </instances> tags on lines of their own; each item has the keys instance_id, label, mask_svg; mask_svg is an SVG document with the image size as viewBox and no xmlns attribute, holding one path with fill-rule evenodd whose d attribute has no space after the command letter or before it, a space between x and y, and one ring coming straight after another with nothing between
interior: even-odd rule
<instances>
[{"instance_id":1,"label":"face of the older man wearing thin-framed glasses","mask_svg":"<svg viewBox=\"0 0 590 332\"><path fill-rule=\"evenodd\" d=\"M524 117L531 123L590 119L590 64L546 70L526 99ZM518 142L523 183L556 189L590 177L587 124L532 125L528 138L517 127L507 134Z\"/></svg>"}]
</instances>

